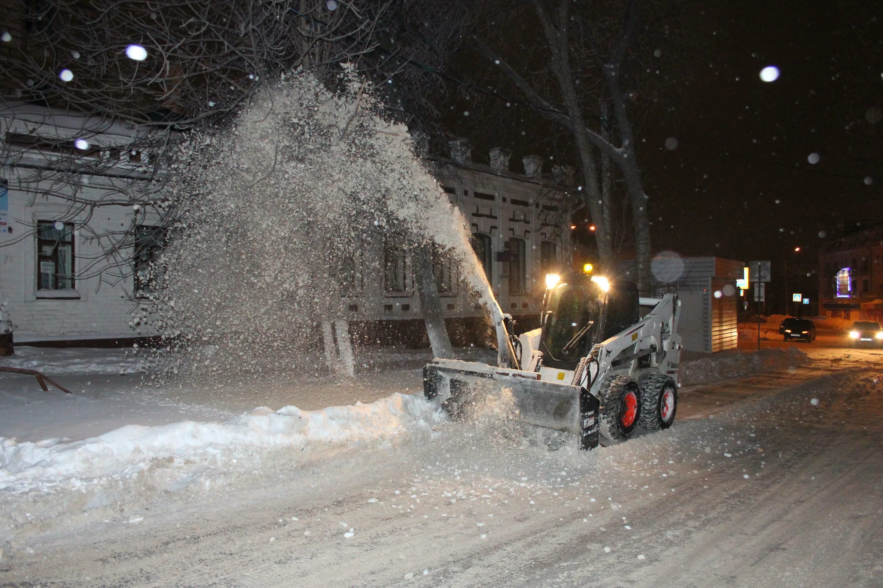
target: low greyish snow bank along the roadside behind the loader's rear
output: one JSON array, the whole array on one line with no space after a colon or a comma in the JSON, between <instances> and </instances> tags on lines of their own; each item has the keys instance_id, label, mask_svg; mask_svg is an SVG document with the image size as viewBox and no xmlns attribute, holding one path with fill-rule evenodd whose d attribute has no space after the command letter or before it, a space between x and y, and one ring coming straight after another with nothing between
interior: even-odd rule
<instances>
[{"instance_id":1,"label":"low greyish snow bank along the roadside behind the loader's rear","mask_svg":"<svg viewBox=\"0 0 883 588\"><path fill-rule=\"evenodd\" d=\"M748 373L773 372L800 366L809 361L796 347L761 351L725 351L707 358L681 362L681 383L684 386L729 380Z\"/></svg>"}]
</instances>

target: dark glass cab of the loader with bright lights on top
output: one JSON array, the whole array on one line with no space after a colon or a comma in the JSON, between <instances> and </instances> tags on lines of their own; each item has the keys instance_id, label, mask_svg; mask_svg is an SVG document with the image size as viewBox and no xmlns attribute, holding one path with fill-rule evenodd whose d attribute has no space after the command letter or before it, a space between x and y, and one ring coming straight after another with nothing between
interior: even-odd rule
<instances>
[{"instance_id":1,"label":"dark glass cab of the loader with bright lights on top","mask_svg":"<svg viewBox=\"0 0 883 588\"><path fill-rule=\"evenodd\" d=\"M593 345L638 320L634 283L567 275L546 291L540 335L543 366L574 370Z\"/></svg>"}]
</instances>

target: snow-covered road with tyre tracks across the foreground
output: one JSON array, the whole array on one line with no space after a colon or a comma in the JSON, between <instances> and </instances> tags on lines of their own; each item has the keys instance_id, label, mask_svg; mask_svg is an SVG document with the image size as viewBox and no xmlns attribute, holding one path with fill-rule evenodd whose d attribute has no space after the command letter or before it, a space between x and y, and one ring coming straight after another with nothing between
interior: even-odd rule
<instances>
[{"instance_id":1,"label":"snow-covered road with tyre tracks across the foreground","mask_svg":"<svg viewBox=\"0 0 883 588\"><path fill-rule=\"evenodd\" d=\"M883 585L883 364L853 359L588 454L445 424L255 471L12 542L0 586Z\"/></svg>"}]
</instances>

